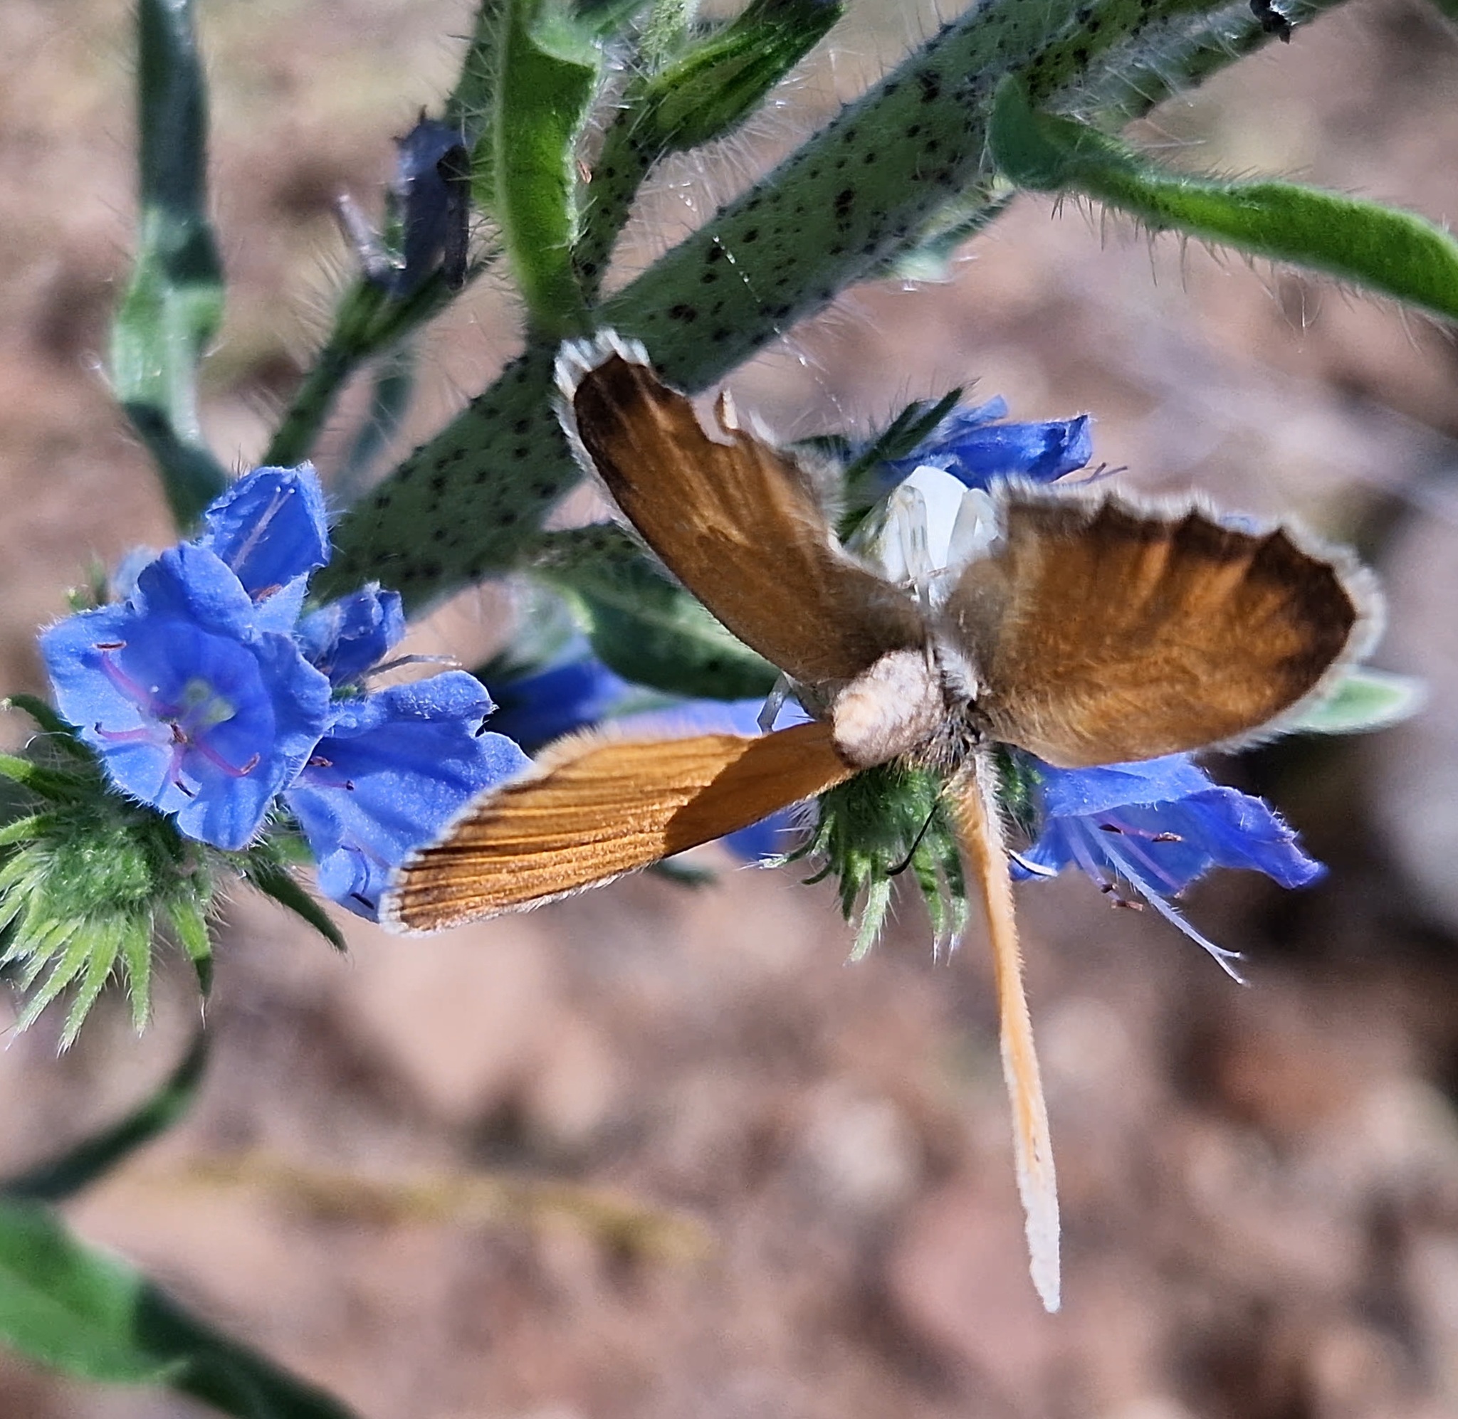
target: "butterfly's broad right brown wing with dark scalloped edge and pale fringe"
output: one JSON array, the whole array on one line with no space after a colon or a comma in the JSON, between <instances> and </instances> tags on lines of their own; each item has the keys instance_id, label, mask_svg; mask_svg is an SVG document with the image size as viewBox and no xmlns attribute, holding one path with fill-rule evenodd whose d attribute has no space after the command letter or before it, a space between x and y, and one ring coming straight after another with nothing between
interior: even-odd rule
<instances>
[{"instance_id":1,"label":"butterfly's broad right brown wing with dark scalloped edge and pale fringe","mask_svg":"<svg viewBox=\"0 0 1458 1419\"><path fill-rule=\"evenodd\" d=\"M986 731L1077 768L1229 743L1279 718L1369 640L1362 575L1284 529L1010 488L1003 541L939 629Z\"/></svg>"}]
</instances>

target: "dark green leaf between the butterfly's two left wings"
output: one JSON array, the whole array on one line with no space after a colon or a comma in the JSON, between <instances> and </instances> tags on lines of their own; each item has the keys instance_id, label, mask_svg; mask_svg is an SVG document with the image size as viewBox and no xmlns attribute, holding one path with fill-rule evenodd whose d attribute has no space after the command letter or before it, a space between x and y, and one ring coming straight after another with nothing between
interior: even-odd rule
<instances>
[{"instance_id":1,"label":"dark green leaf between the butterfly's two left wings","mask_svg":"<svg viewBox=\"0 0 1458 1419\"><path fill-rule=\"evenodd\" d=\"M532 570L572 597L598 659L666 695L749 699L780 672L659 571L621 527L544 533Z\"/></svg>"}]
</instances>

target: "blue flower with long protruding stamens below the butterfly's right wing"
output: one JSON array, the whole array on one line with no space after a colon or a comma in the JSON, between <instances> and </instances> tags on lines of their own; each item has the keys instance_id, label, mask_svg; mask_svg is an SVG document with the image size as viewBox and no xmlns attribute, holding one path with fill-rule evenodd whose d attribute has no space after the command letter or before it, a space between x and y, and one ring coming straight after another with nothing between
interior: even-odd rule
<instances>
[{"instance_id":1,"label":"blue flower with long protruding stamens below the butterfly's right wing","mask_svg":"<svg viewBox=\"0 0 1458 1419\"><path fill-rule=\"evenodd\" d=\"M1127 881L1236 979L1239 954L1200 935L1169 897L1212 867L1251 868L1283 887L1325 871L1261 798L1216 784L1188 755L1092 769L1019 755L1019 765L1034 790L1037 838L1013 858L1013 877L1076 865L1105 892Z\"/></svg>"}]
</instances>

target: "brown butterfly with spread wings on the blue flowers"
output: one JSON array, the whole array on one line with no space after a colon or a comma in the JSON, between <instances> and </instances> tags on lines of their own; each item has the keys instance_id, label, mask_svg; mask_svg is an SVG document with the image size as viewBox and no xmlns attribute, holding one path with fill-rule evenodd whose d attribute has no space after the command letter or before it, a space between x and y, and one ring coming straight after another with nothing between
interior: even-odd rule
<instances>
[{"instance_id":1,"label":"brown butterfly with spread wings on the blue flowers","mask_svg":"<svg viewBox=\"0 0 1458 1419\"><path fill-rule=\"evenodd\" d=\"M739 428L726 398L706 427L640 345L564 347L558 386L585 469L812 718L758 737L569 736L414 852L381 919L434 931L535 906L876 765L939 771L987 912L1032 1275L1056 1310L1057 1189L994 746L1079 768L1267 734L1372 640L1368 574L1286 527L1007 481L933 600L849 552L790 453Z\"/></svg>"}]
</instances>

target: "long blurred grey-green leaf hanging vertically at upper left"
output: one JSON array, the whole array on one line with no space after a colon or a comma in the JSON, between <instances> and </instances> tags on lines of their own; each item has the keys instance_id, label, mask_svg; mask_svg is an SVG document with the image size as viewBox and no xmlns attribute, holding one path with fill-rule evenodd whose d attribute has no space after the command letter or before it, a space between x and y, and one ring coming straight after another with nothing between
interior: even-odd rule
<instances>
[{"instance_id":1,"label":"long blurred grey-green leaf hanging vertically at upper left","mask_svg":"<svg viewBox=\"0 0 1458 1419\"><path fill-rule=\"evenodd\" d=\"M178 527L227 487L197 417L197 369L223 318L207 219L207 79L191 0L139 0L141 221L111 332L111 380L147 446Z\"/></svg>"}]
</instances>

